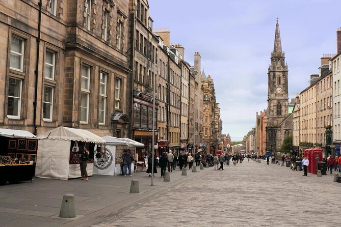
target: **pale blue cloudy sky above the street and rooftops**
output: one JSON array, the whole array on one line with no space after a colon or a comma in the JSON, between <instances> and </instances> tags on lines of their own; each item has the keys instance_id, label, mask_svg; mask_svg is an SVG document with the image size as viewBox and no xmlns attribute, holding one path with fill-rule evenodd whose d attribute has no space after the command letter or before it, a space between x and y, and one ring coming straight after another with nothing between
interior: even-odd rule
<instances>
[{"instance_id":1,"label":"pale blue cloudy sky above the street and rooftops","mask_svg":"<svg viewBox=\"0 0 341 227\"><path fill-rule=\"evenodd\" d=\"M153 28L168 28L173 44L185 47L185 60L215 81L223 133L232 140L255 126L267 108L267 73L278 16L288 65L289 97L318 74L324 53L336 52L341 27L340 0L149 0Z\"/></svg>"}]
</instances>

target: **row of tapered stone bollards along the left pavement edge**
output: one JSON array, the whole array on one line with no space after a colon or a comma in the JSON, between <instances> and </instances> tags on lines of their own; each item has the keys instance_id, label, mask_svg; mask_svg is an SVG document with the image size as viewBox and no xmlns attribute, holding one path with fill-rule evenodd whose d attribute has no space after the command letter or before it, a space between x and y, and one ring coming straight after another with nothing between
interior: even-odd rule
<instances>
[{"instance_id":1,"label":"row of tapered stone bollards along the left pavement edge","mask_svg":"<svg viewBox=\"0 0 341 227\"><path fill-rule=\"evenodd\" d=\"M197 166L192 167L192 172L197 172ZM206 167L208 167L208 163L206 163ZM204 169L203 164L200 165L200 169ZM182 176L187 176L187 168L182 168ZM164 182L170 182L170 174L169 172L165 173ZM130 183L130 191L129 193L140 193L139 189L139 181L132 180ZM74 195L73 194L65 194L63 196L62 206L60 208L59 217L62 218L74 218L76 217L76 211L74 207Z\"/></svg>"}]
</instances>

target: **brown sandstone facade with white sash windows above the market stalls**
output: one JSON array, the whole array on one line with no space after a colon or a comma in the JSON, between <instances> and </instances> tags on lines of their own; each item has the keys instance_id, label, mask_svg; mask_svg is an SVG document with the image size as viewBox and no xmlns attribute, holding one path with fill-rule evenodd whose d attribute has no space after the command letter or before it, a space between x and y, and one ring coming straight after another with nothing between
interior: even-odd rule
<instances>
[{"instance_id":1,"label":"brown sandstone facade with white sash windows above the market stalls","mask_svg":"<svg viewBox=\"0 0 341 227\"><path fill-rule=\"evenodd\" d=\"M128 3L51 0L41 10L38 3L1 6L0 125L127 136Z\"/></svg>"}]
</instances>

